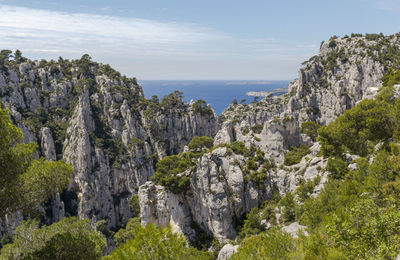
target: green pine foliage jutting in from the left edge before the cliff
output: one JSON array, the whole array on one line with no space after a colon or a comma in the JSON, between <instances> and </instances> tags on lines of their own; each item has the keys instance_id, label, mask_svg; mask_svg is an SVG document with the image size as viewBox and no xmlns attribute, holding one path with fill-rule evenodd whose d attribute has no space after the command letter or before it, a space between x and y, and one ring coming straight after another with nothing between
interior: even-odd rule
<instances>
[{"instance_id":1,"label":"green pine foliage jutting in from the left edge before the cliff","mask_svg":"<svg viewBox=\"0 0 400 260\"><path fill-rule=\"evenodd\" d=\"M0 216L15 210L36 213L72 177L72 167L62 161L33 160L37 145L23 144L22 132L0 108Z\"/></svg>"}]
</instances>

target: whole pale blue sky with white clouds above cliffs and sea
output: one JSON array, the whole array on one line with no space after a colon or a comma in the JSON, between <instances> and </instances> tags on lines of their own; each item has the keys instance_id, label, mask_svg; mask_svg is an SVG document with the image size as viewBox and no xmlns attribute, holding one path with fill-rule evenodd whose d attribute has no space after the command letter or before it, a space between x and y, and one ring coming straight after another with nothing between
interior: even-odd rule
<instances>
[{"instance_id":1,"label":"whole pale blue sky with white clouds above cliffs and sea","mask_svg":"<svg viewBox=\"0 0 400 260\"><path fill-rule=\"evenodd\" d=\"M1 49L139 80L288 80L333 35L400 32L400 0L0 0Z\"/></svg>"}]
</instances>

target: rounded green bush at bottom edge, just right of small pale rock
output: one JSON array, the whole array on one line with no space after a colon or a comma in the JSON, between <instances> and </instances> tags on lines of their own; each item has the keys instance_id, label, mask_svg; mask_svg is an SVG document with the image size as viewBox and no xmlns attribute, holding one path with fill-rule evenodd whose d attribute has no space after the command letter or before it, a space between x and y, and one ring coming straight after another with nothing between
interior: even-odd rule
<instances>
[{"instance_id":1,"label":"rounded green bush at bottom edge, just right of small pale rock","mask_svg":"<svg viewBox=\"0 0 400 260\"><path fill-rule=\"evenodd\" d=\"M291 259L295 257L295 241L279 228L246 238L231 259Z\"/></svg>"}]
</instances>

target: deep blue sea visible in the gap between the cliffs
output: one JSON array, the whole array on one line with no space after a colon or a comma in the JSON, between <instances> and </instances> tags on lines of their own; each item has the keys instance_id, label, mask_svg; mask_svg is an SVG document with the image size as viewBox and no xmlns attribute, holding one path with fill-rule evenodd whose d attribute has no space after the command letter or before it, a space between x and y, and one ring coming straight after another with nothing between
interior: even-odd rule
<instances>
[{"instance_id":1,"label":"deep blue sea visible in the gap between the cliffs","mask_svg":"<svg viewBox=\"0 0 400 260\"><path fill-rule=\"evenodd\" d=\"M211 81L211 80L142 80L139 84L143 87L146 98L157 95L161 97L179 90L183 92L184 100L203 99L211 105L219 115L234 99L240 102L246 99L247 103L254 97L246 96L249 91L271 91L284 88L289 84L288 80L267 81Z\"/></svg>"}]
</instances>

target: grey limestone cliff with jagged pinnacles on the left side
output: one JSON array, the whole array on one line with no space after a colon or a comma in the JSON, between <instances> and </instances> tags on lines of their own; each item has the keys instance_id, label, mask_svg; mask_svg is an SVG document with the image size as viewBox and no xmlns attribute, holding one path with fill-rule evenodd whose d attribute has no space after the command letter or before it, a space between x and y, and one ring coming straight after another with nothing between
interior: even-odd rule
<instances>
[{"instance_id":1,"label":"grey limestone cliff with jagged pinnacles on the left side","mask_svg":"<svg viewBox=\"0 0 400 260\"><path fill-rule=\"evenodd\" d=\"M48 223L77 215L118 228L132 216L129 199L154 173L158 157L180 151L195 135L213 136L218 130L212 110L194 111L179 98L179 107L147 116L151 102L136 80L89 56L6 61L0 97L25 142L39 144L38 156L63 159L75 169L68 189L50 202Z\"/></svg>"}]
</instances>

